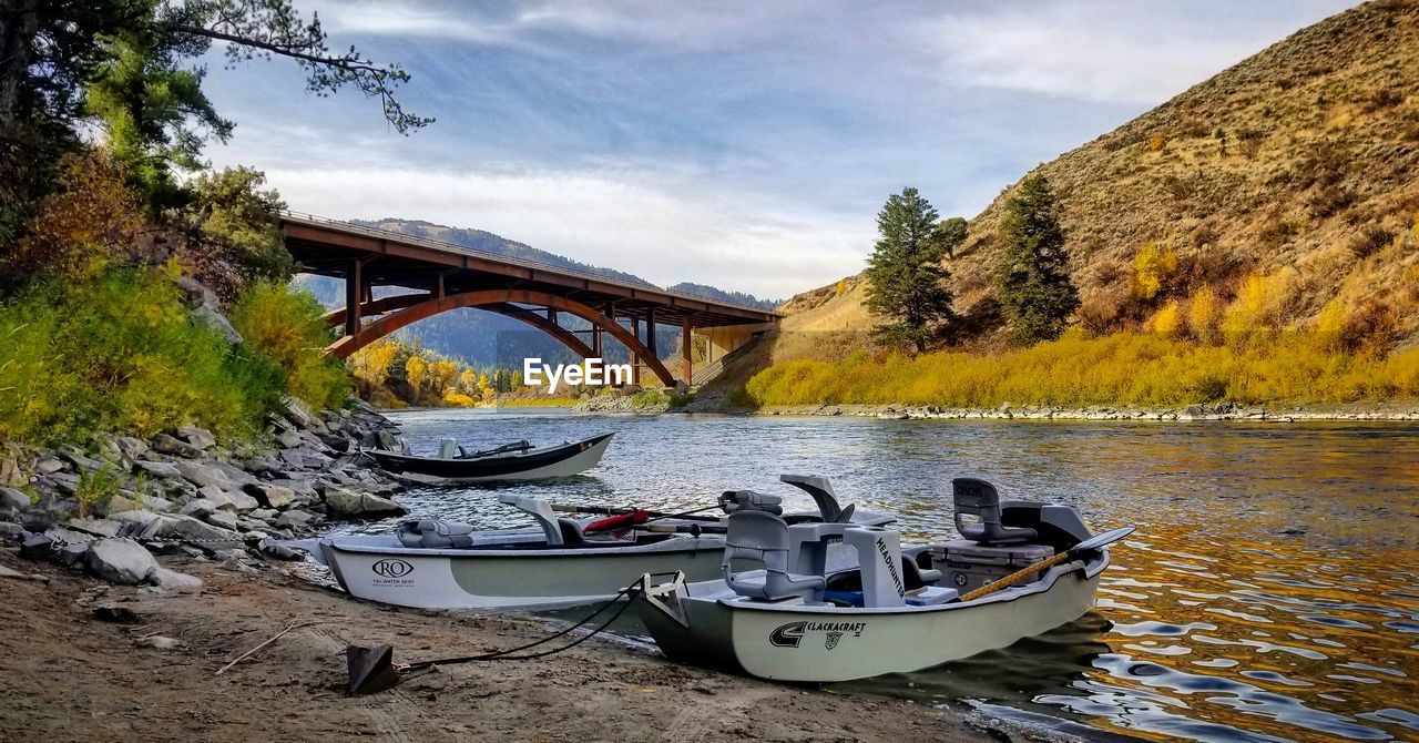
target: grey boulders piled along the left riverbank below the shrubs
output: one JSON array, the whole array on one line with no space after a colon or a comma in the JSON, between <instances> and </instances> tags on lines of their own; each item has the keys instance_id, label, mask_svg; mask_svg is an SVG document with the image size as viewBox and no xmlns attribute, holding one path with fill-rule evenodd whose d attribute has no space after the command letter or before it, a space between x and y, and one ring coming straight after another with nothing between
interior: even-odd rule
<instances>
[{"instance_id":1,"label":"grey boulders piled along the left riverbank below the shrubs","mask_svg":"<svg viewBox=\"0 0 1419 743\"><path fill-rule=\"evenodd\" d=\"M335 519L406 509L403 487L359 448L392 446L397 430L372 408L311 412L289 401L268 446L221 448L200 428L153 440L104 439L89 452L0 449L0 537L20 555L87 570L118 584L196 588L155 554L250 571L295 560L271 540L299 538Z\"/></svg>"}]
</instances>

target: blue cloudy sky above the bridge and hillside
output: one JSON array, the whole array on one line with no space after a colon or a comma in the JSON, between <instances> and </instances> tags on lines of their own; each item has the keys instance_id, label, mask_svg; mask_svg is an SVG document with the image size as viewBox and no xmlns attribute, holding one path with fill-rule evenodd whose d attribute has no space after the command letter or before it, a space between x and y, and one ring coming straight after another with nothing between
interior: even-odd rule
<instances>
[{"instance_id":1,"label":"blue cloudy sky above the bridge and hillside","mask_svg":"<svg viewBox=\"0 0 1419 743\"><path fill-rule=\"evenodd\" d=\"M856 273L887 195L973 216L1112 129L1345 0L297 0L332 47L413 75L304 94L282 60L207 90L209 156L292 209L478 227L658 284L783 298Z\"/></svg>"}]
</instances>

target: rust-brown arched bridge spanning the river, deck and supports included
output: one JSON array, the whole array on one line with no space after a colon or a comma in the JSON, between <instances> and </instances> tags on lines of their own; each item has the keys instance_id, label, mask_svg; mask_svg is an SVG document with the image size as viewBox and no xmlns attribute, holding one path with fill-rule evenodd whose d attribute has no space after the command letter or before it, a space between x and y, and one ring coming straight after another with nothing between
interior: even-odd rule
<instances>
[{"instance_id":1,"label":"rust-brown arched bridge spanning the river, deck and supports included","mask_svg":"<svg viewBox=\"0 0 1419 743\"><path fill-rule=\"evenodd\" d=\"M583 358L602 355L610 335L666 386L675 378L656 357L656 325L678 325L684 382L691 384L691 334L711 337L727 352L779 320L769 310L721 303L692 294L622 281L592 271L514 259L491 251L413 237L287 212L281 216L285 246L304 273L345 280L345 307L326 315L345 334L328 351L345 358L370 342L426 317L474 307L521 320ZM375 287L400 287L410 294L375 298ZM562 327L575 315L589 331ZM583 340L585 337L585 340Z\"/></svg>"}]
</instances>

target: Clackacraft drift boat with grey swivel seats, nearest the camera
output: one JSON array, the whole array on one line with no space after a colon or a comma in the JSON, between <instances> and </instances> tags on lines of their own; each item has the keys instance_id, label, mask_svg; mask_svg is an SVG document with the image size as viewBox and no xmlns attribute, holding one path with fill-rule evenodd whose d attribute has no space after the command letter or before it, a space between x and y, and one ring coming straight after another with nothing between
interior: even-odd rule
<instances>
[{"instance_id":1,"label":"Clackacraft drift boat with grey swivel seats, nearest the camera","mask_svg":"<svg viewBox=\"0 0 1419 743\"><path fill-rule=\"evenodd\" d=\"M731 514L721 578L677 574L657 584L646 575L637 609L673 659L765 679L836 682L1003 648L1094 607L1108 567L1100 544L1131 530L1091 538L1070 506L1000 503L982 480L954 486L956 528L966 538L908 550L887 528ZM744 560L765 567L735 571ZM1032 565L1036 575L968 595Z\"/></svg>"}]
</instances>

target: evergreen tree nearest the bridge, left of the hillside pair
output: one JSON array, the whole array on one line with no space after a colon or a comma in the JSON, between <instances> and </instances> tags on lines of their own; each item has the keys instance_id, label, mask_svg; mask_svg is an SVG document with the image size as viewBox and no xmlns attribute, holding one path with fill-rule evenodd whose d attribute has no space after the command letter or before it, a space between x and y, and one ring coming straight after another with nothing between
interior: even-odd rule
<instances>
[{"instance_id":1,"label":"evergreen tree nearest the bridge, left of the hillside pair","mask_svg":"<svg viewBox=\"0 0 1419 743\"><path fill-rule=\"evenodd\" d=\"M890 196L877 215L881 239L867 261L867 308L888 320L873 328L878 342L911 344L921 352L952 318L937 216L912 188Z\"/></svg>"}]
</instances>

